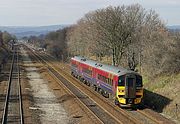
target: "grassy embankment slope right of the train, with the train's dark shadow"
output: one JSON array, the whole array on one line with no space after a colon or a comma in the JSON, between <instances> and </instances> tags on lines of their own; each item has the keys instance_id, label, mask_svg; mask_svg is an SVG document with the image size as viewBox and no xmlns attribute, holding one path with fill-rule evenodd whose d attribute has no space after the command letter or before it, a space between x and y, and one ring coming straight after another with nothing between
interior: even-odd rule
<instances>
[{"instance_id":1,"label":"grassy embankment slope right of the train, with the train's dark shadow","mask_svg":"<svg viewBox=\"0 0 180 124\"><path fill-rule=\"evenodd\" d=\"M144 87L145 105L180 123L180 74L158 76Z\"/></svg>"}]
</instances>

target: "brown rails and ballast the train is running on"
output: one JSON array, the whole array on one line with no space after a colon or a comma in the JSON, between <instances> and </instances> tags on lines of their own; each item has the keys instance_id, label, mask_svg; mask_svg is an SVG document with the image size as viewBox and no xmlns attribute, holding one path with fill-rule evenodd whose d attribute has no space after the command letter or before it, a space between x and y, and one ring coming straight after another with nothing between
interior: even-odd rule
<instances>
[{"instance_id":1,"label":"brown rails and ballast the train is running on","mask_svg":"<svg viewBox=\"0 0 180 124\"><path fill-rule=\"evenodd\" d=\"M59 70L59 72L62 72L63 70ZM66 76L69 75L68 73L65 74ZM66 77L64 76L64 77ZM71 79L70 82L73 82L74 78L72 76L70 76ZM79 82L79 80L75 79L76 81ZM83 88L82 88L82 87ZM107 99L105 99L104 97L102 97L100 94L97 94L97 92L95 92L94 90L92 90L91 88L89 88L87 85L84 84L80 84L77 86L78 88L81 89L81 91L89 91L86 92L85 94L88 94L88 96L91 97L91 99L93 101L95 101L96 103L99 104L99 106L102 106L103 109L105 109L105 111L109 112L109 115L111 115L114 118L118 118L120 120L124 120L125 118L129 121L123 121L123 123L137 123L137 124L159 124L159 121L157 121L156 119L152 118L152 117L148 117L147 115L144 116L142 113L139 113L139 111L126 111L124 109L119 108L118 106L114 105L114 103L112 101L109 101ZM93 96L92 96L93 94ZM113 109L112 109L113 108ZM135 116L136 115L136 116ZM122 116L122 117L120 117ZM124 119L122 119L124 118Z\"/></svg>"}]
</instances>

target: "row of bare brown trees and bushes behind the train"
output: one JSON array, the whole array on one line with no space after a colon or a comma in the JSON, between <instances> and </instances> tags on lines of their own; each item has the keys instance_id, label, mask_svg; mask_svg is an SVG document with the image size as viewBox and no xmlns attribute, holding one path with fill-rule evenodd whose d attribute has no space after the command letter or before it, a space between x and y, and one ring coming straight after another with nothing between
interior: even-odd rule
<instances>
[{"instance_id":1,"label":"row of bare brown trees and bushes behind the train","mask_svg":"<svg viewBox=\"0 0 180 124\"><path fill-rule=\"evenodd\" d=\"M154 10L139 4L98 9L77 24L29 39L61 59L107 57L109 64L151 76L180 72L180 33L170 32Z\"/></svg>"}]
</instances>

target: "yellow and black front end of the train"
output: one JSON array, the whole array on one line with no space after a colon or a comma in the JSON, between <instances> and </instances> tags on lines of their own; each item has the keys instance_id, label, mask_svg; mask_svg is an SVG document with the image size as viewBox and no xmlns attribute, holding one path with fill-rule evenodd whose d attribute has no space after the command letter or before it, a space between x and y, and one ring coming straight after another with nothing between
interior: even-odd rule
<instances>
[{"instance_id":1,"label":"yellow and black front end of the train","mask_svg":"<svg viewBox=\"0 0 180 124\"><path fill-rule=\"evenodd\" d=\"M142 76L136 74L119 76L115 104L121 107L134 107L141 104L142 98Z\"/></svg>"}]
</instances>

